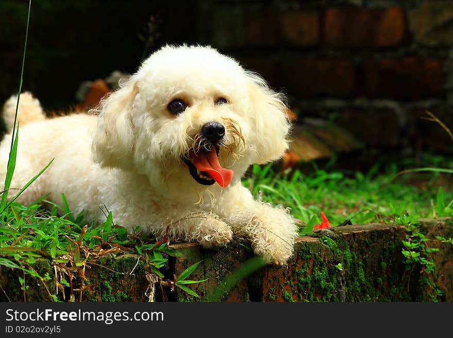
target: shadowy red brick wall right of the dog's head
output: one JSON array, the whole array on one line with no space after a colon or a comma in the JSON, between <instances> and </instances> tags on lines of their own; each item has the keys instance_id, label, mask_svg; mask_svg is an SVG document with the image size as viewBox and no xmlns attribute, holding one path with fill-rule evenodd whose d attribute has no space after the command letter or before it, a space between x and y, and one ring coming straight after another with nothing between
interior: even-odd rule
<instances>
[{"instance_id":1,"label":"shadowy red brick wall right of the dog's head","mask_svg":"<svg viewBox=\"0 0 453 338\"><path fill-rule=\"evenodd\" d=\"M203 38L281 88L300 117L333 119L370 148L452 149L450 1L214 2ZM235 17L234 25L228 18Z\"/></svg>"}]
</instances>

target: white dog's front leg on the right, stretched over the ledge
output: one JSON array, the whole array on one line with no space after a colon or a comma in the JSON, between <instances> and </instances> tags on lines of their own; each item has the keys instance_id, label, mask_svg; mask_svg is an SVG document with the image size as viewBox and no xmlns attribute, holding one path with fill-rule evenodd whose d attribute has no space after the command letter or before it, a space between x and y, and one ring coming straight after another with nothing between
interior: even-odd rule
<instances>
[{"instance_id":1,"label":"white dog's front leg on the right, stretched over the ledge","mask_svg":"<svg viewBox=\"0 0 453 338\"><path fill-rule=\"evenodd\" d=\"M225 191L217 207L233 232L248 237L266 262L282 265L291 257L297 225L287 209L255 201L240 183Z\"/></svg>"}]
</instances>

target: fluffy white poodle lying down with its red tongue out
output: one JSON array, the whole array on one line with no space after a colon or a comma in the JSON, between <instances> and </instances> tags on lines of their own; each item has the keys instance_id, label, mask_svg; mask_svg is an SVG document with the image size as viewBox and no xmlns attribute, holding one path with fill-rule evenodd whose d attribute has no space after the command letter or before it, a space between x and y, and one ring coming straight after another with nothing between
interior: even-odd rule
<instances>
[{"instance_id":1,"label":"fluffy white poodle lying down with its red tongue out","mask_svg":"<svg viewBox=\"0 0 453 338\"><path fill-rule=\"evenodd\" d=\"M16 99L4 106L8 126ZM74 214L84 210L89 219L105 219L105 205L129 230L138 225L162 238L170 225L171 240L205 247L228 243L234 233L267 262L284 264L295 219L255 201L241 184L251 164L273 161L288 147L283 99L213 48L166 46L92 114L44 119L38 100L22 94L11 188L55 158L19 202L50 193L62 205L64 193ZM0 145L2 183L10 142L7 135Z\"/></svg>"}]
</instances>

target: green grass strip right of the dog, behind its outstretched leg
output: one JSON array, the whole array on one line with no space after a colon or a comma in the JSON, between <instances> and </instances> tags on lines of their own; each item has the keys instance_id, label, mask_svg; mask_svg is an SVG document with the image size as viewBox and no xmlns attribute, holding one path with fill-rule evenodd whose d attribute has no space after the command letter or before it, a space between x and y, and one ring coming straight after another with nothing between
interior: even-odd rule
<instances>
[{"instance_id":1,"label":"green grass strip right of the dog, behind its outstretched leg","mask_svg":"<svg viewBox=\"0 0 453 338\"><path fill-rule=\"evenodd\" d=\"M302 232L310 232L312 225L321 222L321 211L332 226L346 221L408 224L423 217L453 216L453 191L439 184L451 174L431 171L397 175L402 169L390 164L380 172L375 166L361 173L328 171L314 165L308 174L296 170L282 177L270 166L254 166L244 184L255 198L290 207L294 217L303 222Z\"/></svg>"}]
</instances>

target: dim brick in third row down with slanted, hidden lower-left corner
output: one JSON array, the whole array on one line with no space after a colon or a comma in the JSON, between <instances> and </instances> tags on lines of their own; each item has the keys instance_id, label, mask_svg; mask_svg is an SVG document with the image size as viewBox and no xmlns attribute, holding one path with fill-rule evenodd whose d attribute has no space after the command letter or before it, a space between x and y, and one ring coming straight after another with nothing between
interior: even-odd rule
<instances>
[{"instance_id":1,"label":"dim brick in third row down with slanted, hidden lower-left corner","mask_svg":"<svg viewBox=\"0 0 453 338\"><path fill-rule=\"evenodd\" d=\"M346 109L340 112L337 123L368 146L399 146L398 116L392 110Z\"/></svg>"}]
</instances>

